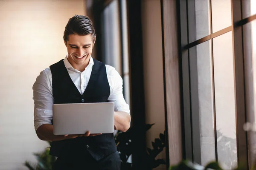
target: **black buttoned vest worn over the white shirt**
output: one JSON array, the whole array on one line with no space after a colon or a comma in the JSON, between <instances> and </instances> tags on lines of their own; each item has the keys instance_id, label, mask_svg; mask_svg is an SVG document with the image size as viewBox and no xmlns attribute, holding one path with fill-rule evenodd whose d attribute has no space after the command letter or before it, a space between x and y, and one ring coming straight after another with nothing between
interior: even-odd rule
<instances>
[{"instance_id":1,"label":"black buttoned vest worn over the white shirt","mask_svg":"<svg viewBox=\"0 0 256 170\"><path fill-rule=\"evenodd\" d=\"M107 102L110 87L106 67L102 62L93 59L94 65L90 80L84 94L81 95L70 78L63 59L50 66L52 72L52 94L55 104L61 103L92 103ZM52 122L54 124L54 121ZM79 149L78 149L79 148ZM94 159L99 160L116 151L113 133L99 136L77 137L52 142L50 154L53 156L68 156L73 150L87 150Z\"/></svg>"}]
</instances>

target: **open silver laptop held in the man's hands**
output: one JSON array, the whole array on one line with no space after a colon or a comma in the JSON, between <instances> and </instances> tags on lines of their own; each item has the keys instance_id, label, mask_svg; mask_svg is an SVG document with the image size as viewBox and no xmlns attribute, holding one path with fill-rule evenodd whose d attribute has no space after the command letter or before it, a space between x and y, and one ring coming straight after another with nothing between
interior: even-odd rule
<instances>
[{"instance_id":1,"label":"open silver laptop held in the man's hands","mask_svg":"<svg viewBox=\"0 0 256 170\"><path fill-rule=\"evenodd\" d=\"M114 103L54 104L53 134L113 133Z\"/></svg>"}]
</instances>

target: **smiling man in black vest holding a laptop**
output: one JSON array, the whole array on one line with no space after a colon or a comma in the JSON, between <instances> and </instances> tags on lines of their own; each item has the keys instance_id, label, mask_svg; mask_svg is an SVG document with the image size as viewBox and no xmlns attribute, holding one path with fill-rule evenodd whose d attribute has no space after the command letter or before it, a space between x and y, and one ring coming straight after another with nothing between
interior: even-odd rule
<instances>
[{"instance_id":1,"label":"smiling man in black vest holding a laptop","mask_svg":"<svg viewBox=\"0 0 256 170\"><path fill-rule=\"evenodd\" d=\"M52 170L119 170L113 133L53 135L53 104L114 102L114 129L123 132L131 119L122 78L113 67L91 57L96 34L90 18L70 18L63 38L68 55L42 71L33 85L36 134L41 140L52 141L50 154L58 157Z\"/></svg>"}]
</instances>

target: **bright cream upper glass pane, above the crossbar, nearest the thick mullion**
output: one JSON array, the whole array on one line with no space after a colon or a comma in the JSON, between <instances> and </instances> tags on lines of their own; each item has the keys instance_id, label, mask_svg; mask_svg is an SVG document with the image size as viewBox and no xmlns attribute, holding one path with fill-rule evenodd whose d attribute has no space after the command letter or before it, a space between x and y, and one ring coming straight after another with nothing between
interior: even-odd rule
<instances>
[{"instance_id":1,"label":"bright cream upper glass pane, above the crossbar, nearest the thick mullion","mask_svg":"<svg viewBox=\"0 0 256 170\"><path fill-rule=\"evenodd\" d=\"M231 25L231 0L212 0L212 33Z\"/></svg>"}]
</instances>

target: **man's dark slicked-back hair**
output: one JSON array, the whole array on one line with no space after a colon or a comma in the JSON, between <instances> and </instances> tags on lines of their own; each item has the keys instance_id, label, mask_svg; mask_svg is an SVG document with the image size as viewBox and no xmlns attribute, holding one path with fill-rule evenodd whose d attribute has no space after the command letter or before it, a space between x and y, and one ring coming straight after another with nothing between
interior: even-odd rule
<instances>
[{"instance_id":1,"label":"man's dark slicked-back hair","mask_svg":"<svg viewBox=\"0 0 256 170\"><path fill-rule=\"evenodd\" d=\"M65 42L68 40L68 36L70 34L77 35L88 35L91 34L93 38L93 42L95 41L95 29L93 27L93 22L89 17L83 15L75 15L70 18L67 22L67 26L65 27L63 39Z\"/></svg>"}]
</instances>

